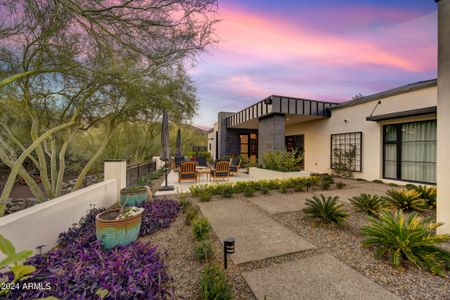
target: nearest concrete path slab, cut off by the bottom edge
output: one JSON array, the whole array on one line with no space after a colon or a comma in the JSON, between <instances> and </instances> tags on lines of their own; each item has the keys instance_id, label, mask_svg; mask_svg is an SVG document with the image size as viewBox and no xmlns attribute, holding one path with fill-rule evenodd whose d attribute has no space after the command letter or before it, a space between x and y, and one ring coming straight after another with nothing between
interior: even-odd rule
<instances>
[{"instance_id":1,"label":"nearest concrete path slab, cut off by the bottom edge","mask_svg":"<svg viewBox=\"0 0 450 300\"><path fill-rule=\"evenodd\" d=\"M329 254L243 273L258 299L400 299Z\"/></svg>"}]
</instances>

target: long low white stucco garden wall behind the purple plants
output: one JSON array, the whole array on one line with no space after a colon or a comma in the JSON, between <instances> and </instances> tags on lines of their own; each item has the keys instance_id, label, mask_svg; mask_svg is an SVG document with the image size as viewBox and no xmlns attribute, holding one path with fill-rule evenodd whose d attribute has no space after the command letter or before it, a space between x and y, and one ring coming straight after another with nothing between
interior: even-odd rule
<instances>
[{"instance_id":1,"label":"long low white stucco garden wall behind the purple plants","mask_svg":"<svg viewBox=\"0 0 450 300\"><path fill-rule=\"evenodd\" d=\"M16 251L36 250L56 245L58 235L85 216L91 205L108 207L118 199L118 180L109 179L73 193L49 200L0 218L0 234L9 239ZM0 260L4 255L0 253Z\"/></svg>"}]
</instances>

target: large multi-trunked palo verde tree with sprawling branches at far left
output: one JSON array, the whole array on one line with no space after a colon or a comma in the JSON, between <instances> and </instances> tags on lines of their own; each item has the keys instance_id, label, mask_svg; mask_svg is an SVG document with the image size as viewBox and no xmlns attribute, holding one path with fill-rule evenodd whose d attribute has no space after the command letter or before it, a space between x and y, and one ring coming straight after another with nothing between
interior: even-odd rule
<instances>
[{"instance_id":1,"label":"large multi-trunked palo verde tree with sprawling branches at far left","mask_svg":"<svg viewBox=\"0 0 450 300\"><path fill-rule=\"evenodd\" d=\"M40 200L60 194L76 132L99 123L112 129L125 112L133 115L138 103L124 104L131 100L125 86L151 81L214 42L216 7L215 0L0 1L0 93L23 108L30 136L24 144L2 123L0 158L11 173L0 201L18 175ZM111 97L114 91L121 94ZM45 193L25 174L26 161Z\"/></svg>"}]
</instances>

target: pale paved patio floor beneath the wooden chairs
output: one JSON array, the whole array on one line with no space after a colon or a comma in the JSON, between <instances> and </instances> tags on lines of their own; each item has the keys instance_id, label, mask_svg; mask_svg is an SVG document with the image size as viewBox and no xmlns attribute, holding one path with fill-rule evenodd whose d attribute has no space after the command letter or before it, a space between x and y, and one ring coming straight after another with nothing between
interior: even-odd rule
<instances>
[{"instance_id":1,"label":"pale paved patio floor beneath the wooden chairs","mask_svg":"<svg viewBox=\"0 0 450 300\"><path fill-rule=\"evenodd\" d=\"M178 193L187 193L189 192L189 187L195 184L216 184L216 183L224 183L224 182L238 182L238 181L253 181L253 180L259 180L260 178L254 178L252 176L249 176L246 173L238 172L237 174L230 176L229 180L217 180L217 181L209 181L206 177L206 175L200 176L200 181L195 183L195 181L182 181L181 183L178 182L178 173L175 171L170 171L170 173L167 175L167 181L168 185L171 185L174 187L174 190L172 191L158 191L156 192L155 196L165 196L165 195L174 195ZM164 180L161 186L164 186L166 184L166 181Z\"/></svg>"}]
</instances>

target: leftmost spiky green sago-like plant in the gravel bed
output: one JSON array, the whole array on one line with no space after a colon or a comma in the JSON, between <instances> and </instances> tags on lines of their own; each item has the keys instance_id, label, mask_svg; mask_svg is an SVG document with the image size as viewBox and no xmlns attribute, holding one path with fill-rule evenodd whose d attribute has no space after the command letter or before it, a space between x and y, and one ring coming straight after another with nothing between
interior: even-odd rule
<instances>
[{"instance_id":1,"label":"leftmost spiky green sago-like plant in the gravel bed","mask_svg":"<svg viewBox=\"0 0 450 300\"><path fill-rule=\"evenodd\" d=\"M325 197L320 194L320 198L313 196L312 199L306 199L306 207L303 212L307 217L317 218L326 223L336 223L341 225L349 217L349 213L343 208L342 203L338 203L339 197Z\"/></svg>"}]
</instances>

